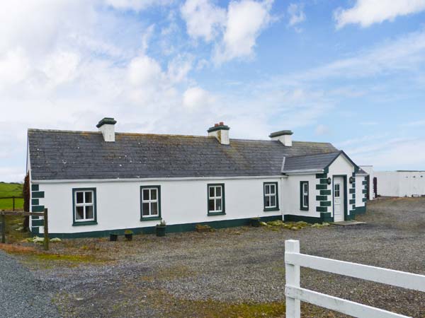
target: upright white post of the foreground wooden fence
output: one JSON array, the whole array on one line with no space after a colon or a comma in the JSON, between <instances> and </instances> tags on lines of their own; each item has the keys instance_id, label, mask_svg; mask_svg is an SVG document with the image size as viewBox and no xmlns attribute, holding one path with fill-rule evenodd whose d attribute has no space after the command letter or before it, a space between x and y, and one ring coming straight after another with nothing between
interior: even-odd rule
<instances>
[{"instance_id":1,"label":"upright white post of the foreground wooden fence","mask_svg":"<svg viewBox=\"0 0 425 318\"><path fill-rule=\"evenodd\" d=\"M285 253L300 253L300 241L285 241ZM288 264L285 261L286 285L300 287L300 266ZM286 296L286 318L301 317L301 302Z\"/></svg>"}]
</instances>

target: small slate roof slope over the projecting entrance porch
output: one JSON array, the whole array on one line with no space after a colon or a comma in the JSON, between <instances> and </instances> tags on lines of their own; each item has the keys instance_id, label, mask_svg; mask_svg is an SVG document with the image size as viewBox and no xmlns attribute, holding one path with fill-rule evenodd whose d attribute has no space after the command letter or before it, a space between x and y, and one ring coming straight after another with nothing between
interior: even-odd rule
<instances>
[{"instance_id":1,"label":"small slate roof slope over the projecting entrance porch","mask_svg":"<svg viewBox=\"0 0 425 318\"><path fill-rule=\"evenodd\" d=\"M340 154L341 151L334 151L319 155L301 155L285 158L285 164L283 165L282 172L288 173L300 170L322 170L334 162L336 157Z\"/></svg>"}]
</instances>

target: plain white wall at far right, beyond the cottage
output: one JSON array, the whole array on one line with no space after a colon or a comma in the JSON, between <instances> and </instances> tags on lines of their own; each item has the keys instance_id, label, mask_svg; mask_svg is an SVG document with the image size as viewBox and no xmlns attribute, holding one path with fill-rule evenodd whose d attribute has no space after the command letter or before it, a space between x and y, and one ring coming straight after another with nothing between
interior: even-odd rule
<instances>
[{"instance_id":1,"label":"plain white wall at far right, beyond the cottage","mask_svg":"<svg viewBox=\"0 0 425 318\"><path fill-rule=\"evenodd\" d=\"M423 196L425 195L425 172L378 172L378 195Z\"/></svg>"}]
</instances>

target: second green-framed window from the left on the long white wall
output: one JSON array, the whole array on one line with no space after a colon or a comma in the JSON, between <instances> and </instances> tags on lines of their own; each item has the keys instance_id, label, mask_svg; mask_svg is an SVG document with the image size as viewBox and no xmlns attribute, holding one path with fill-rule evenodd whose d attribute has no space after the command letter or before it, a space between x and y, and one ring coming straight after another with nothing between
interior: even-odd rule
<instances>
[{"instance_id":1,"label":"second green-framed window from the left on the long white wall","mask_svg":"<svg viewBox=\"0 0 425 318\"><path fill-rule=\"evenodd\" d=\"M140 187L141 220L158 220L161 218L161 187Z\"/></svg>"}]
</instances>

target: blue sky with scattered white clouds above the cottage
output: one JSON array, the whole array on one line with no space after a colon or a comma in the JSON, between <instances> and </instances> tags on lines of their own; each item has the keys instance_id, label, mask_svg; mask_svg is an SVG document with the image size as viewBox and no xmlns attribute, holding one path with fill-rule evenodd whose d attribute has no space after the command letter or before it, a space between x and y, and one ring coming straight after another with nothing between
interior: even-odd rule
<instances>
[{"instance_id":1,"label":"blue sky with scattered white clouds above the cottage","mask_svg":"<svg viewBox=\"0 0 425 318\"><path fill-rule=\"evenodd\" d=\"M0 180L28 128L327 141L425 170L425 0L17 0L0 11Z\"/></svg>"}]
</instances>

